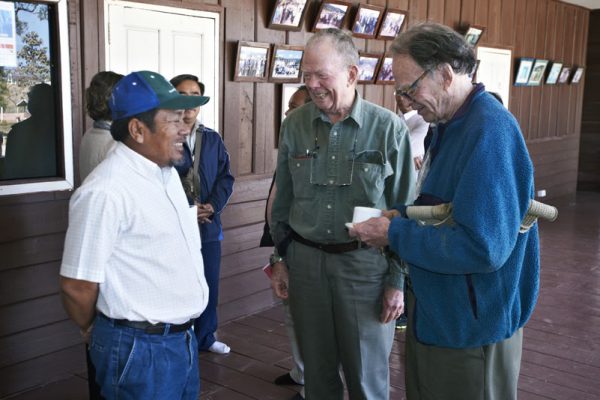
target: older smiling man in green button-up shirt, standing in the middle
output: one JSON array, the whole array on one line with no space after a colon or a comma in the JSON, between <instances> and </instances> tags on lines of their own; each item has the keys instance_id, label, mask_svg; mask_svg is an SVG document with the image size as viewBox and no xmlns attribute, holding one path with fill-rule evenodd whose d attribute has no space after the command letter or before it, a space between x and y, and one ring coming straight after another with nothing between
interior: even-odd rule
<instances>
[{"instance_id":1,"label":"older smiling man in green button-up shirt, standing in the middle","mask_svg":"<svg viewBox=\"0 0 600 400\"><path fill-rule=\"evenodd\" d=\"M305 362L307 399L388 399L393 321L404 307L400 266L353 241L355 206L412 200L406 125L356 91L358 52L337 29L306 45L313 102L283 122L272 210L272 286L288 297ZM289 278L289 280L288 280Z\"/></svg>"}]
</instances>

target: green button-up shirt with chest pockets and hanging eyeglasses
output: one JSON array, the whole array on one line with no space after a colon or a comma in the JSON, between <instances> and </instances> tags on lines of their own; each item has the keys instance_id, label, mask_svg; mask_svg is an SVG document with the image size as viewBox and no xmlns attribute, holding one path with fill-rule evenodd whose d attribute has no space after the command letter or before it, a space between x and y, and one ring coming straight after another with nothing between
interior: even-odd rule
<instances>
[{"instance_id":1,"label":"green button-up shirt with chest pockets and hanging eyeglasses","mask_svg":"<svg viewBox=\"0 0 600 400\"><path fill-rule=\"evenodd\" d=\"M406 124L355 93L350 114L335 124L314 103L283 121L271 214L276 243L288 227L314 242L349 242L345 223L354 207L412 202L415 174ZM390 272L389 283L397 287L399 267Z\"/></svg>"}]
</instances>

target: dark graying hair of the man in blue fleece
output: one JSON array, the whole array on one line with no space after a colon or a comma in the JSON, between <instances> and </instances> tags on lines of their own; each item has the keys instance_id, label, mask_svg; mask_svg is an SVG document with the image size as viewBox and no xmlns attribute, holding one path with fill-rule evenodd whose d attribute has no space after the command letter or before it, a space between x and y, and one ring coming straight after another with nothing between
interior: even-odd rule
<instances>
[{"instance_id":1,"label":"dark graying hair of the man in blue fleece","mask_svg":"<svg viewBox=\"0 0 600 400\"><path fill-rule=\"evenodd\" d=\"M392 55L406 54L424 70L449 64L454 72L469 74L475 68L473 47L456 31L434 22L410 28L394 39Z\"/></svg>"}]
</instances>

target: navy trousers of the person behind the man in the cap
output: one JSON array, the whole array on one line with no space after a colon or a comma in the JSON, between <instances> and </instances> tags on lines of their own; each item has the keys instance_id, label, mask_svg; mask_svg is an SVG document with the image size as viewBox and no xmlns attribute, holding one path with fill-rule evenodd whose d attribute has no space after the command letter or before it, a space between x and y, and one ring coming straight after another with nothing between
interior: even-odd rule
<instances>
[{"instance_id":1,"label":"navy trousers of the person behind the man in the cap","mask_svg":"<svg viewBox=\"0 0 600 400\"><path fill-rule=\"evenodd\" d=\"M202 243L204 276L208 285L206 310L194 322L198 349L206 351L217 340L217 305L219 303L219 276L221 274L221 242Z\"/></svg>"}]
</instances>

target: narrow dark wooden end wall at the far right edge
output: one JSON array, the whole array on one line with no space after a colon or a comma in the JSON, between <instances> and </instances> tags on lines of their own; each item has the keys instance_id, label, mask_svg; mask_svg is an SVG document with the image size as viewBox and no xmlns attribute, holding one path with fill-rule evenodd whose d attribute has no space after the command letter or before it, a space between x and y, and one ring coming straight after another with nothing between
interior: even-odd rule
<instances>
[{"instance_id":1,"label":"narrow dark wooden end wall at the far right edge","mask_svg":"<svg viewBox=\"0 0 600 400\"><path fill-rule=\"evenodd\" d=\"M590 13L578 190L600 191L600 10Z\"/></svg>"}]
</instances>

